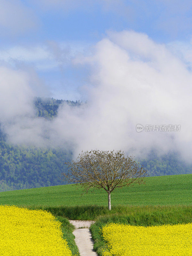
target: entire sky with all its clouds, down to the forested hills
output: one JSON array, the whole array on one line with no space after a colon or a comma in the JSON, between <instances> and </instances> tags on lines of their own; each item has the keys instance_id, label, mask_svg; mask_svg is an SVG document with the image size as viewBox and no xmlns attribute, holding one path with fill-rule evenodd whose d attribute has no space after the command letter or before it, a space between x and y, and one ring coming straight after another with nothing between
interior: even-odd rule
<instances>
[{"instance_id":1,"label":"entire sky with all its clouds, down to the forested hills","mask_svg":"<svg viewBox=\"0 0 192 256\"><path fill-rule=\"evenodd\" d=\"M0 0L0 7L0 123L11 143L75 155L177 150L192 161L191 1ZM64 104L44 120L35 118L35 96L88 105Z\"/></svg>"}]
</instances>

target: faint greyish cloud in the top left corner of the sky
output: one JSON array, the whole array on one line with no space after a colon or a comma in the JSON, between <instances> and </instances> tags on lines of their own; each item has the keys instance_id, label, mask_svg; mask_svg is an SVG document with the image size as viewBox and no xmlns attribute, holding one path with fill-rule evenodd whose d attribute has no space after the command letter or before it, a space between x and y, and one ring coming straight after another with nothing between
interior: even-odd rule
<instances>
[{"instance_id":1,"label":"faint greyish cloud in the top left corner of the sky","mask_svg":"<svg viewBox=\"0 0 192 256\"><path fill-rule=\"evenodd\" d=\"M39 21L28 7L19 0L0 0L0 31L2 35L20 35L37 28Z\"/></svg>"}]
</instances>

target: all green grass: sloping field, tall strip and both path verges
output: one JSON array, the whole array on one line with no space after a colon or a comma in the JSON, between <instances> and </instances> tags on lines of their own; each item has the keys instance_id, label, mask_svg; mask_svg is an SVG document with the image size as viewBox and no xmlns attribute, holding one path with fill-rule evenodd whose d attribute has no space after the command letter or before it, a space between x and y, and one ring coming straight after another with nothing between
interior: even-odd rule
<instances>
[{"instance_id":1,"label":"all green grass: sloping field, tall strip and both path verges","mask_svg":"<svg viewBox=\"0 0 192 256\"><path fill-rule=\"evenodd\" d=\"M62 223L63 238L78 254L67 219L96 220L91 226L94 249L102 255L106 242L101 233L107 223L135 226L181 224L192 222L192 174L145 178L146 183L116 189L111 194L112 210L104 190L81 196L82 189L73 185L0 192L0 204L51 212Z\"/></svg>"}]
</instances>

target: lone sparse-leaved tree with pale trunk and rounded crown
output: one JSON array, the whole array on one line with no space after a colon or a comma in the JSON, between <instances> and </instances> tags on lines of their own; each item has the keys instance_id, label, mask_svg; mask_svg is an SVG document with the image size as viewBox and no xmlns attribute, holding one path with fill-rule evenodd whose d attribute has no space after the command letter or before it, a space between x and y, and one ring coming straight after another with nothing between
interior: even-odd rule
<instances>
[{"instance_id":1,"label":"lone sparse-leaved tree with pale trunk and rounded crown","mask_svg":"<svg viewBox=\"0 0 192 256\"><path fill-rule=\"evenodd\" d=\"M62 172L64 177L60 179L68 183L81 184L85 193L89 188L105 189L108 193L109 210L111 210L111 192L115 188L145 183L143 177L147 175L147 170L143 166L139 167L132 156L126 158L124 151L121 153L119 150L114 153L114 150L111 152L92 150L79 154L78 158L77 162L65 162L70 171L67 174Z\"/></svg>"}]
</instances>

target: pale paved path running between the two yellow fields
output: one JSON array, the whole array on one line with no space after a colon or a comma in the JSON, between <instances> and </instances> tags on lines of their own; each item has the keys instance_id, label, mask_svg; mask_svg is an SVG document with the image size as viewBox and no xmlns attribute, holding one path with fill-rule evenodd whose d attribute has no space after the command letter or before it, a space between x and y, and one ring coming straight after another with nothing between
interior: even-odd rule
<instances>
[{"instance_id":1,"label":"pale paved path running between the two yellow fields","mask_svg":"<svg viewBox=\"0 0 192 256\"><path fill-rule=\"evenodd\" d=\"M98 256L93 251L93 240L89 227L94 221L89 220L69 220L71 224L75 226L73 234L75 236L75 242L79 248L81 256Z\"/></svg>"}]
</instances>

